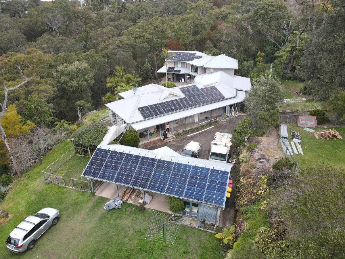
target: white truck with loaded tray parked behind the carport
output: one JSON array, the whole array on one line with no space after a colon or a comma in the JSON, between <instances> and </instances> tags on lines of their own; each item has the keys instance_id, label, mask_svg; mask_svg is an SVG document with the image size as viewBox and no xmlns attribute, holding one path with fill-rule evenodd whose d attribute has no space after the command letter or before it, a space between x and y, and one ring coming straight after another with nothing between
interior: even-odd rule
<instances>
[{"instance_id":1,"label":"white truck with loaded tray parked behind the carport","mask_svg":"<svg viewBox=\"0 0 345 259\"><path fill-rule=\"evenodd\" d=\"M230 153L232 134L216 132L213 141L211 142L210 158L209 160L226 163Z\"/></svg>"}]
</instances>

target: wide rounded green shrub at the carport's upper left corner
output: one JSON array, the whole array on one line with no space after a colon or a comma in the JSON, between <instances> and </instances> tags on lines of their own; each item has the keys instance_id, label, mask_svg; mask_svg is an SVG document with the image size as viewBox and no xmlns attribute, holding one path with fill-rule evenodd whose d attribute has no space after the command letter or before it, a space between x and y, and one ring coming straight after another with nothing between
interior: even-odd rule
<instances>
[{"instance_id":1,"label":"wide rounded green shrub at the carport's upper left corner","mask_svg":"<svg viewBox=\"0 0 345 259\"><path fill-rule=\"evenodd\" d=\"M95 145L98 146L107 134L108 128L101 122L91 123L85 127L78 128L72 134L74 143L81 144L82 146Z\"/></svg>"}]
</instances>

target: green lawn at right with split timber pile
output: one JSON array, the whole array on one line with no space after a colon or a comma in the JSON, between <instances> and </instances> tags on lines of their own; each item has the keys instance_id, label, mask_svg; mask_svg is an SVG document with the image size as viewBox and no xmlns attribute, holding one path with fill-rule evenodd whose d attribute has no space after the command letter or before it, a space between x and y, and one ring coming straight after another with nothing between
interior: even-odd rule
<instances>
[{"instance_id":1,"label":"green lawn at right with split timber pile","mask_svg":"<svg viewBox=\"0 0 345 259\"><path fill-rule=\"evenodd\" d=\"M344 140L318 140L314 137L314 133L309 136L310 132L303 130L304 127L298 127L296 124L288 124L287 127L288 134L291 133L290 130L295 130L302 135L301 145L304 156L294 154L300 169L318 164L345 167L345 127L331 127L335 128ZM322 129L324 129L323 126L313 128L315 131Z\"/></svg>"}]
</instances>

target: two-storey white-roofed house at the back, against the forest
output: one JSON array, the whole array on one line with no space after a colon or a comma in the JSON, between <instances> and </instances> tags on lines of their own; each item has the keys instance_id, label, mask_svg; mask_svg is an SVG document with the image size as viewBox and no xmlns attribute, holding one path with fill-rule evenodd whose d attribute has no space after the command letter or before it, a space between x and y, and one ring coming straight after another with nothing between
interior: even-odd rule
<instances>
[{"instance_id":1,"label":"two-storey white-roofed house at the back, against the forest","mask_svg":"<svg viewBox=\"0 0 345 259\"><path fill-rule=\"evenodd\" d=\"M177 85L178 83L192 83L197 75L210 74L217 71L234 76L235 69L238 69L238 61L225 55L215 57L199 51L170 51L168 65L161 67L158 73L162 73L161 79L166 80L168 69L168 80Z\"/></svg>"}]
</instances>

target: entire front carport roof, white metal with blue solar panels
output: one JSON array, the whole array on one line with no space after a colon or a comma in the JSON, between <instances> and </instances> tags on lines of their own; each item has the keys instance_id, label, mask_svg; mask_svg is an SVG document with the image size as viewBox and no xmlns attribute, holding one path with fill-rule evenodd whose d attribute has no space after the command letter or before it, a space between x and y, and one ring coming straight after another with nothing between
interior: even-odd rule
<instances>
[{"instance_id":1,"label":"entire front carport roof, white metal with blue solar panels","mask_svg":"<svg viewBox=\"0 0 345 259\"><path fill-rule=\"evenodd\" d=\"M224 208L231 167L184 157L169 147L151 151L105 145L97 147L82 176Z\"/></svg>"}]
</instances>

